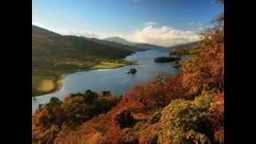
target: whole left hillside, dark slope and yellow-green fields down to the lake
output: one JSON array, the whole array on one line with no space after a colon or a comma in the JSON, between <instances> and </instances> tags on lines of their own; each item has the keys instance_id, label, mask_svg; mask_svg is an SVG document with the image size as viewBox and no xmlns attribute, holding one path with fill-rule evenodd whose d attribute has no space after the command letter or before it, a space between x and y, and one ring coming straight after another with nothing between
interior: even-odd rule
<instances>
[{"instance_id":1,"label":"whole left hillside, dark slope and yellow-green fields down to the lake","mask_svg":"<svg viewBox=\"0 0 256 144\"><path fill-rule=\"evenodd\" d=\"M62 74L88 70L102 61L125 58L130 46L106 45L77 36L63 36L32 25L32 96L57 90ZM122 62L126 65L129 62ZM120 65L118 65L120 66Z\"/></svg>"}]
</instances>

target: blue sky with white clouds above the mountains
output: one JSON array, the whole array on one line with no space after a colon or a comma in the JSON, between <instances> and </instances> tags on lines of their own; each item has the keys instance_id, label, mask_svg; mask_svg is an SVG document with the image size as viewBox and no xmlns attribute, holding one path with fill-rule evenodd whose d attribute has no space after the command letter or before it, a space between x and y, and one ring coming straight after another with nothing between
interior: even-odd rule
<instances>
[{"instance_id":1,"label":"blue sky with white clouds above the mountains","mask_svg":"<svg viewBox=\"0 0 256 144\"><path fill-rule=\"evenodd\" d=\"M198 40L222 11L214 0L33 0L32 24L64 35L172 46Z\"/></svg>"}]
</instances>

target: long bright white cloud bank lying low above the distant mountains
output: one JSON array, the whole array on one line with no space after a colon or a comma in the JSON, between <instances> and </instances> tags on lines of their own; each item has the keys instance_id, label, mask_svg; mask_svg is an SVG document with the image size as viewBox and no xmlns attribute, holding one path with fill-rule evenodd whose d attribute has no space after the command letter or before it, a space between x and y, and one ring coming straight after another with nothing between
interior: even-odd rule
<instances>
[{"instance_id":1,"label":"long bright white cloud bank lying low above the distant mountains","mask_svg":"<svg viewBox=\"0 0 256 144\"><path fill-rule=\"evenodd\" d=\"M198 34L190 30L176 30L169 26L154 27L153 23L145 26L142 30L137 30L131 34L101 34L86 30L67 30L61 32L64 35L78 35L88 38L109 38L118 36L130 42L143 42L159 46L173 46L179 43L193 42L199 40Z\"/></svg>"}]
</instances>

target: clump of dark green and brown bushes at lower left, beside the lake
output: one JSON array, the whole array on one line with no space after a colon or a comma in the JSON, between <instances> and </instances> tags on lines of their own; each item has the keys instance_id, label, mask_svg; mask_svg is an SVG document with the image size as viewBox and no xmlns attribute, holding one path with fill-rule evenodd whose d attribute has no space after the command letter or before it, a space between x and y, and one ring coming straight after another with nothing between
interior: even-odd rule
<instances>
[{"instance_id":1,"label":"clump of dark green and brown bushes at lower left, beside the lake","mask_svg":"<svg viewBox=\"0 0 256 144\"><path fill-rule=\"evenodd\" d=\"M110 98L110 100L108 100ZM106 112L116 104L112 96L102 97L91 90L84 94L70 94L64 102L50 98L32 117L33 141L52 143L62 126L75 128L94 116Z\"/></svg>"}]
</instances>

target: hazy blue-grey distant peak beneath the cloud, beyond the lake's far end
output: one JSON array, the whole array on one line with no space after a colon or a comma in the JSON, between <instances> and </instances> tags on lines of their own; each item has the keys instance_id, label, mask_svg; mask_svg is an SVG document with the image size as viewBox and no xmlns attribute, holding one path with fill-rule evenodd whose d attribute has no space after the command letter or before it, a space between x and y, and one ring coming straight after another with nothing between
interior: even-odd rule
<instances>
[{"instance_id":1,"label":"hazy blue-grey distant peak beneath the cloud, beyond the lake's far end","mask_svg":"<svg viewBox=\"0 0 256 144\"><path fill-rule=\"evenodd\" d=\"M152 45L148 43L129 42L126 39L119 38L119 37L110 37L110 38L105 38L103 40L106 40L109 42L117 42L117 43L121 43L123 45L128 45L128 46L135 46L142 49L166 48L164 46L157 46L157 45Z\"/></svg>"}]
</instances>

